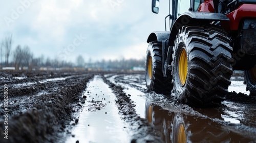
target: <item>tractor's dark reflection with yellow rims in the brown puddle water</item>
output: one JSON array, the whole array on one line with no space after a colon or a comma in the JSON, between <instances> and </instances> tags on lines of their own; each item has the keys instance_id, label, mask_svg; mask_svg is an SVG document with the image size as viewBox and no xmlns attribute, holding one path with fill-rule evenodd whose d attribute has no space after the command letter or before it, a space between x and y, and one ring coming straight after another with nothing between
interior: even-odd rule
<instances>
[{"instance_id":1,"label":"tractor's dark reflection with yellow rims in the brown puddle water","mask_svg":"<svg viewBox=\"0 0 256 143\"><path fill-rule=\"evenodd\" d=\"M164 142L249 142L248 139L210 118L165 110L149 101L145 104L145 118ZM222 118L221 112L209 113Z\"/></svg>"}]
</instances>

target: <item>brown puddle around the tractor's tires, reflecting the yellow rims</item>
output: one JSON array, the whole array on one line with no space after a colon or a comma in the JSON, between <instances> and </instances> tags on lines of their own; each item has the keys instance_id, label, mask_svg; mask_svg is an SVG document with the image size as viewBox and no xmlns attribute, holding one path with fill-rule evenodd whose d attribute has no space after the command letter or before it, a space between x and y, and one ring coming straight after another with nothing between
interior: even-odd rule
<instances>
[{"instance_id":1,"label":"brown puddle around the tractor's tires, reflecting the yellow rims","mask_svg":"<svg viewBox=\"0 0 256 143\"><path fill-rule=\"evenodd\" d=\"M140 78L140 79L139 79ZM112 83L123 87L126 95L136 105L136 113L146 118L161 136L163 142L250 142L256 130L255 108L253 105L223 101L226 107L185 109L186 106L166 103L162 94L143 93L135 86L144 88L141 76L114 75L108 78ZM142 78L144 79L144 78ZM138 84L138 85L137 85ZM142 85L143 84L143 85ZM249 94L243 81L231 81L229 91ZM177 106L177 107L176 107ZM250 109L247 109L250 107ZM184 109L183 109L184 108ZM252 114L250 114L252 113Z\"/></svg>"}]
</instances>

